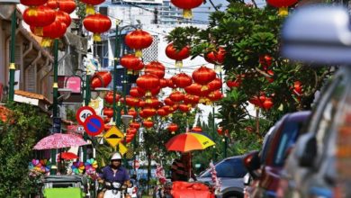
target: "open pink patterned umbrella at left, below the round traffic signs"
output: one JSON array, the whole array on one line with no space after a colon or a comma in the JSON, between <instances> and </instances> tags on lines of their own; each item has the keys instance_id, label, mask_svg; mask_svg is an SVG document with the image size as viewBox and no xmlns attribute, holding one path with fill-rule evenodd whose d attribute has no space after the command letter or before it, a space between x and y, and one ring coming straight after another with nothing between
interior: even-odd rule
<instances>
[{"instance_id":1,"label":"open pink patterned umbrella at left, below the round traffic signs","mask_svg":"<svg viewBox=\"0 0 351 198\"><path fill-rule=\"evenodd\" d=\"M81 139L75 135L55 133L43 139L34 146L33 149L52 149L52 148L67 148L67 147L79 147L88 144L84 139Z\"/></svg>"}]
</instances>

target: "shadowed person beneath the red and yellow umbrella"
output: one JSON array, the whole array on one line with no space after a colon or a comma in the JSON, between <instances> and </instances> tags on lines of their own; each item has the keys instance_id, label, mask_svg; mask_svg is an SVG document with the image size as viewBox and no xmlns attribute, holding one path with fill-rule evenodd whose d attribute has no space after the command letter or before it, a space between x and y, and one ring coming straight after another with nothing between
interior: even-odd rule
<instances>
[{"instance_id":1,"label":"shadowed person beneath the red and yellow umbrella","mask_svg":"<svg viewBox=\"0 0 351 198\"><path fill-rule=\"evenodd\" d=\"M190 178L196 181L196 176L193 174L193 163L191 162L192 154L190 152L182 153L179 159L175 159L171 166L171 180L188 182Z\"/></svg>"}]
</instances>

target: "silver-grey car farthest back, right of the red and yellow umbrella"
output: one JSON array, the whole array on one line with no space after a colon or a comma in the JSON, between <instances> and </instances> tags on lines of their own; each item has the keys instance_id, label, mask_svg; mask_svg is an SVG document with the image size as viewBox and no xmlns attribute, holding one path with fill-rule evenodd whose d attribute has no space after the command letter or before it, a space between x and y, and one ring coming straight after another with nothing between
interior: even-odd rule
<instances>
[{"instance_id":1,"label":"silver-grey car farthest back, right of the red and yellow umbrella","mask_svg":"<svg viewBox=\"0 0 351 198\"><path fill-rule=\"evenodd\" d=\"M247 170L244 167L242 156L222 159L215 164L215 168L221 181L220 193L222 193L222 197L243 197L243 177L247 174ZM210 169L199 175L197 180L211 184Z\"/></svg>"}]
</instances>

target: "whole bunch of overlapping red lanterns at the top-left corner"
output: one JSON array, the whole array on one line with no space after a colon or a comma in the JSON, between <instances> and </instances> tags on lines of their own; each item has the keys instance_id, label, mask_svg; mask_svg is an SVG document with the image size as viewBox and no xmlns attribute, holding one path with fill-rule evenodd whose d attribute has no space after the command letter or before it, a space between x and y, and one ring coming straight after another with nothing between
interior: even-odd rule
<instances>
[{"instance_id":1,"label":"whole bunch of overlapping red lanterns at the top-left corner","mask_svg":"<svg viewBox=\"0 0 351 198\"><path fill-rule=\"evenodd\" d=\"M23 12L23 21L31 32L43 38L41 45L49 47L52 40L61 38L71 23L71 14L76 9L74 0L21 0L28 6Z\"/></svg>"}]
</instances>

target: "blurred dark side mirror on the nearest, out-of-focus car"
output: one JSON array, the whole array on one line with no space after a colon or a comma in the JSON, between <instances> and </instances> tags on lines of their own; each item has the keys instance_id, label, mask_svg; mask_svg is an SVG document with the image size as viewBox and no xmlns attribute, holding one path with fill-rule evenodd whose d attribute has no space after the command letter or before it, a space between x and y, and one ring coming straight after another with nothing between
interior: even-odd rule
<instances>
[{"instance_id":1,"label":"blurred dark side mirror on the nearest, out-of-focus car","mask_svg":"<svg viewBox=\"0 0 351 198\"><path fill-rule=\"evenodd\" d=\"M296 145L296 157L299 166L311 167L317 156L317 140L313 133L307 133L300 137Z\"/></svg>"}]
</instances>

